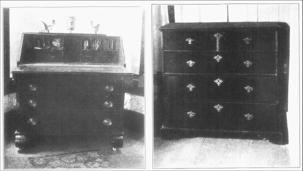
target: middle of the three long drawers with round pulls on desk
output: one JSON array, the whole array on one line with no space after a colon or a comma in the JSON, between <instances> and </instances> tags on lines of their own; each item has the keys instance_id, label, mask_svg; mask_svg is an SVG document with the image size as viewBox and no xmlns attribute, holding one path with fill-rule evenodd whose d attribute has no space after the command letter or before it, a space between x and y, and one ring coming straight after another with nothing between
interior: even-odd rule
<instances>
[{"instance_id":1,"label":"middle of the three long drawers with round pulls on desk","mask_svg":"<svg viewBox=\"0 0 303 171\"><path fill-rule=\"evenodd\" d=\"M20 94L20 108L43 111L60 110L106 110L121 111L122 95L103 94Z\"/></svg>"}]
</instances>

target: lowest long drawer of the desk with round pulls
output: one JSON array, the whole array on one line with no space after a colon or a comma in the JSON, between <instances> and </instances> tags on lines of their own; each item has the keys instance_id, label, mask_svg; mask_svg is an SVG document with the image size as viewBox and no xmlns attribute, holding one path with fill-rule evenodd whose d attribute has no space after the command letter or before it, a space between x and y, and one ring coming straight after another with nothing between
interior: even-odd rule
<instances>
[{"instance_id":1,"label":"lowest long drawer of the desk with round pulls","mask_svg":"<svg viewBox=\"0 0 303 171\"><path fill-rule=\"evenodd\" d=\"M120 130L121 117L121 112L44 111L28 113L25 122L43 135L94 135ZM35 119L36 125L28 123L30 118Z\"/></svg>"}]
</instances>

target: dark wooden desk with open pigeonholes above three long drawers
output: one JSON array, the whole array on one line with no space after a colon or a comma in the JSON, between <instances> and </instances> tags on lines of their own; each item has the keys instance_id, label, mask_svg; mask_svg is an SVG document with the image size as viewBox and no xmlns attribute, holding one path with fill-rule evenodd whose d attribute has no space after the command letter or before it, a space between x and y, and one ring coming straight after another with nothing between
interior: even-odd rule
<instances>
[{"instance_id":1,"label":"dark wooden desk with open pigeonholes above three long drawers","mask_svg":"<svg viewBox=\"0 0 303 171\"><path fill-rule=\"evenodd\" d=\"M121 37L24 33L17 70L15 144L38 136L95 135L123 147L125 67Z\"/></svg>"}]
</instances>

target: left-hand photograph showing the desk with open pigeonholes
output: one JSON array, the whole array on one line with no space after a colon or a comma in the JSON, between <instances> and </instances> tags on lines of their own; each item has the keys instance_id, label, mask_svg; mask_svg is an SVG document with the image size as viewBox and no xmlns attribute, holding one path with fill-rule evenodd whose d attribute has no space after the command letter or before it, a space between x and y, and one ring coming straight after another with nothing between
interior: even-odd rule
<instances>
[{"instance_id":1,"label":"left-hand photograph showing the desk with open pigeonholes","mask_svg":"<svg viewBox=\"0 0 303 171\"><path fill-rule=\"evenodd\" d=\"M1 13L2 168L145 168L143 8Z\"/></svg>"}]
</instances>

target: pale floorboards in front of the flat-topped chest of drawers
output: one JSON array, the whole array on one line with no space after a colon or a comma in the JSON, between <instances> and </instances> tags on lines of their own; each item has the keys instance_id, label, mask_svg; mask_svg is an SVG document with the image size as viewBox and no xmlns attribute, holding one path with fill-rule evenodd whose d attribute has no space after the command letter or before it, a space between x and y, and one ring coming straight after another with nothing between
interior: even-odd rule
<instances>
[{"instance_id":1,"label":"pale floorboards in front of the flat-topped chest of drawers","mask_svg":"<svg viewBox=\"0 0 303 171\"><path fill-rule=\"evenodd\" d=\"M287 167L287 145L263 140L154 140L154 168Z\"/></svg>"}]
</instances>

